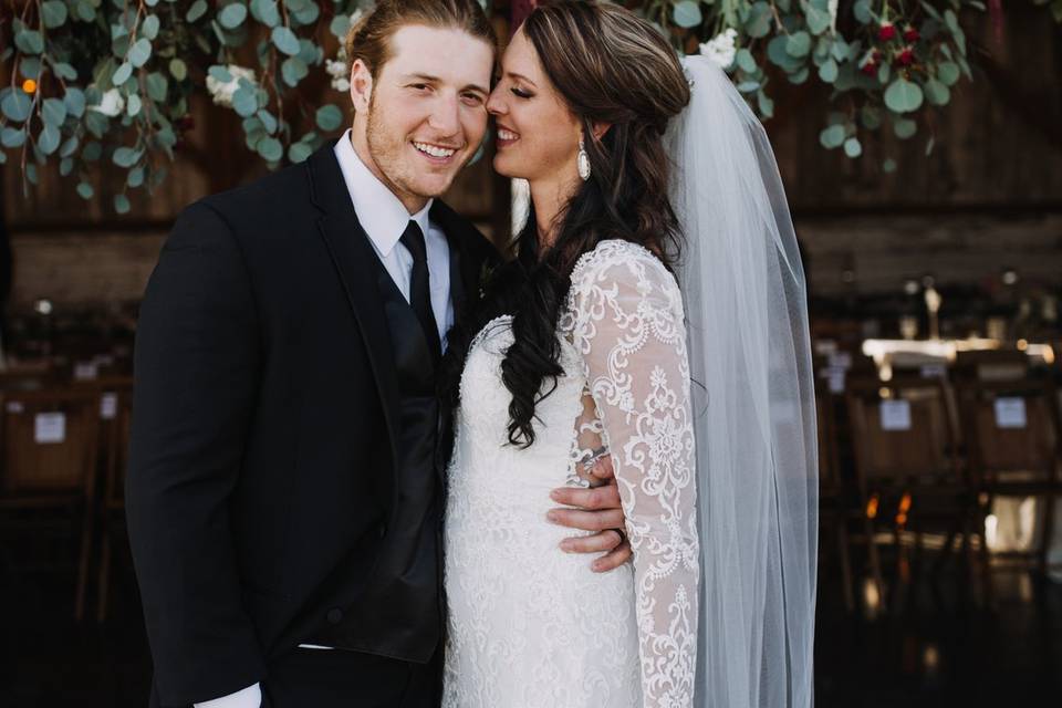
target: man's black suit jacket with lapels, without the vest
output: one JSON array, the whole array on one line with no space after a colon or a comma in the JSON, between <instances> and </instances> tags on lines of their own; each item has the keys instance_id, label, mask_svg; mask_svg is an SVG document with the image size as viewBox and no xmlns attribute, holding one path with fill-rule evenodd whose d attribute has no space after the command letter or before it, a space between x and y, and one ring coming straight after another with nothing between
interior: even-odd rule
<instances>
[{"instance_id":1,"label":"man's black suit jacket with lapels, without the vest","mask_svg":"<svg viewBox=\"0 0 1062 708\"><path fill-rule=\"evenodd\" d=\"M475 294L493 248L438 200L431 218ZM332 145L191 205L162 251L137 332L127 516L163 705L262 680L357 601L396 457L376 258Z\"/></svg>"}]
</instances>

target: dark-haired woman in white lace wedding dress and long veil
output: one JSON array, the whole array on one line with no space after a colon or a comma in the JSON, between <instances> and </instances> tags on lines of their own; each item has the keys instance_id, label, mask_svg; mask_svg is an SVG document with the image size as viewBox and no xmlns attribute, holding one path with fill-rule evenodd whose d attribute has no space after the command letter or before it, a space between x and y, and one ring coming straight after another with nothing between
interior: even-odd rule
<instances>
[{"instance_id":1,"label":"dark-haired woman in white lace wedding dress and long veil","mask_svg":"<svg viewBox=\"0 0 1062 708\"><path fill-rule=\"evenodd\" d=\"M531 13L488 110L532 206L450 334L442 705L811 706L806 305L762 128L721 70L585 1ZM594 574L540 519L605 454L634 555Z\"/></svg>"}]
</instances>

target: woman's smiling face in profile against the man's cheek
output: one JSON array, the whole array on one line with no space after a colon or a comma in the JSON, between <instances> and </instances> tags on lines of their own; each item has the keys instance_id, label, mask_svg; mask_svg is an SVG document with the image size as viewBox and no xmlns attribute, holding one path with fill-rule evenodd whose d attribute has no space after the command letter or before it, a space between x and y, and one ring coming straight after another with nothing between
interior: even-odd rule
<instances>
[{"instance_id":1,"label":"woman's smiling face in profile against the man's cheek","mask_svg":"<svg viewBox=\"0 0 1062 708\"><path fill-rule=\"evenodd\" d=\"M497 122L494 169L506 177L574 178L579 123L542 69L534 45L518 31L501 60L487 110Z\"/></svg>"}]
</instances>

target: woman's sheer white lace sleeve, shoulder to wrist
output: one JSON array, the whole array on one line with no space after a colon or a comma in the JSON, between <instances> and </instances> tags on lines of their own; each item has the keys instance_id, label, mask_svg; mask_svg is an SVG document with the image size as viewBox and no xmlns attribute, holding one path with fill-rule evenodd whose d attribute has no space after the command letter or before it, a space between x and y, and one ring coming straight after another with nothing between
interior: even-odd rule
<instances>
[{"instance_id":1,"label":"woman's sheer white lace sleeve, shoulder to wrist","mask_svg":"<svg viewBox=\"0 0 1062 708\"><path fill-rule=\"evenodd\" d=\"M634 551L646 708L693 705L697 491L683 301L647 250L605 241L572 274L562 330L582 355Z\"/></svg>"}]
</instances>

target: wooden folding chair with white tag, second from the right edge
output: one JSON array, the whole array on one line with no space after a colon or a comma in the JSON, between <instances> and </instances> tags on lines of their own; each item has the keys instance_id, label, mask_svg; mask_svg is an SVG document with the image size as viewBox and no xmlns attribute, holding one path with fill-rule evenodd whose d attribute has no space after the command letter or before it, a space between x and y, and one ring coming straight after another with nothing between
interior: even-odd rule
<instances>
[{"instance_id":1,"label":"wooden folding chair with white tag, second from the right edge","mask_svg":"<svg viewBox=\"0 0 1062 708\"><path fill-rule=\"evenodd\" d=\"M853 381L846 392L856 480L863 503L870 563L878 596L885 597L875 528L889 519L900 574L906 574L903 533L915 532L923 551L928 524L944 523L946 556L962 533L969 558L972 490L958 456L957 426L945 382L894 377Z\"/></svg>"}]
</instances>

